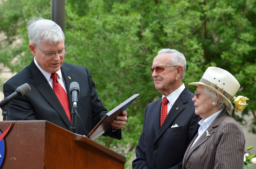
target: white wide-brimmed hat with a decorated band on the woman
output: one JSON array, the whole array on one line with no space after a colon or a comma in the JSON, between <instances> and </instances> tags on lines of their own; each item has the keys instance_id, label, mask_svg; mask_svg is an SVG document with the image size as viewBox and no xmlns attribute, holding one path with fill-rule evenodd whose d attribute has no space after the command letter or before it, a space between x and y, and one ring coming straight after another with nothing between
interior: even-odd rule
<instances>
[{"instance_id":1,"label":"white wide-brimmed hat with a decorated band on the woman","mask_svg":"<svg viewBox=\"0 0 256 169\"><path fill-rule=\"evenodd\" d=\"M230 101L240 88L239 82L231 73L217 67L208 67L199 82L189 83L188 85L204 85L214 92L219 93L232 107L233 105Z\"/></svg>"}]
</instances>

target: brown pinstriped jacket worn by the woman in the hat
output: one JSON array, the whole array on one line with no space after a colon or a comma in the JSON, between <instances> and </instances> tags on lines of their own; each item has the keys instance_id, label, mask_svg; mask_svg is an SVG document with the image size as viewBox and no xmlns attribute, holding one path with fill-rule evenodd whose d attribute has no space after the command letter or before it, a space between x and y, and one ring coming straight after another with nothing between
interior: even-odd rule
<instances>
[{"instance_id":1,"label":"brown pinstriped jacket worn by the woman in the hat","mask_svg":"<svg viewBox=\"0 0 256 169\"><path fill-rule=\"evenodd\" d=\"M239 123L226 111L212 121L206 132L190 149L196 137L188 146L183 158L183 169L243 169L244 133Z\"/></svg>"}]
</instances>

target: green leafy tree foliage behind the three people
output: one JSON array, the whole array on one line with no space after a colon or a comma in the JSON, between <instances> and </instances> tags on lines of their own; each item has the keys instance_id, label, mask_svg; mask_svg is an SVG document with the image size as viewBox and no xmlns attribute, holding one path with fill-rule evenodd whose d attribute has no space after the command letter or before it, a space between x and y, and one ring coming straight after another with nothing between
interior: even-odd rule
<instances>
[{"instance_id":1,"label":"green leafy tree foliage behind the three people","mask_svg":"<svg viewBox=\"0 0 256 169\"><path fill-rule=\"evenodd\" d=\"M33 16L50 19L50 5L47 0L3 0L0 62L13 71L31 62L26 22ZM66 0L65 61L88 67L108 110L140 94L127 109L122 141L96 141L126 155L127 161L134 155L144 108L161 97L149 73L161 48L185 55L185 85L198 81L208 66L231 72L241 85L237 94L250 98L242 113L232 115L241 124L249 123L255 133L255 5L256 0ZM254 119L244 121L249 114Z\"/></svg>"}]
</instances>

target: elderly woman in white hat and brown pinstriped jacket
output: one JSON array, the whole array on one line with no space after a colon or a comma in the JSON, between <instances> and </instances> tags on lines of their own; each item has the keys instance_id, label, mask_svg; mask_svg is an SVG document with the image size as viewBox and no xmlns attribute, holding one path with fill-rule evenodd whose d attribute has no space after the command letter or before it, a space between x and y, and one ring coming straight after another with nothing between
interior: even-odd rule
<instances>
[{"instance_id":1,"label":"elderly woman in white hat and brown pinstriped jacket","mask_svg":"<svg viewBox=\"0 0 256 169\"><path fill-rule=\"evenodd\" d=\"M209 67L199 82L188 85L198 86L192 100L195 113L202 120L184 155L182 168L243 169L244 133L228 114L233 108L231 100L240 88L238 81L226 70Z\"/></svg>"}]
</instances>

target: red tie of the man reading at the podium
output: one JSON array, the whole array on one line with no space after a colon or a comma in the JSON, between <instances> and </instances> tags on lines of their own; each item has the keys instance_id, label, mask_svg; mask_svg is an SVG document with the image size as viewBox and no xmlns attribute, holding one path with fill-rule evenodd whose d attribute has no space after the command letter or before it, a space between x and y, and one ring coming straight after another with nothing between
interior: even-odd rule
<instances>
[{"instance_id":1,"label":"red tie of the man reading at the podium","mask_svg":"<svg viewBox=\"0 0 256 169\"><path fill-rule=\"evenodd\" d=\"M71 123L71 114L70 114L70 107L69 107L69 102L68 102L68 94L66 91L63 89L63 87L60 85L59 81L57 80L57 73L52 73L51 78L52 78L52 88L53 91L55 92L56 96L60 100L60 103L62 107L64 108L68 120Z\"/></svg>"}]
</instances>

